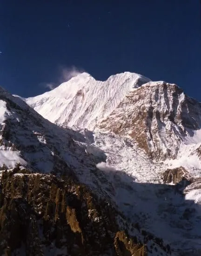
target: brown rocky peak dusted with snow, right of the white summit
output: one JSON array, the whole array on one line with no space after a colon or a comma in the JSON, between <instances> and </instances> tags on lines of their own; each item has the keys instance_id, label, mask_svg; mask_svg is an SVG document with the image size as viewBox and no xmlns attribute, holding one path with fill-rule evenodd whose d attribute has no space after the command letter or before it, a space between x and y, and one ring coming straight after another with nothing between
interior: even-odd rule
<instances>
[{"instance_id":1,"label":"brown rocky peak dusted with snow, right of the white summit","mask_svg":"<svg viewBox=\"0 0 201 256\"><path fill-rule=\"evenodd\" d=\"M201 128L201 103L181 88L149 82L127 94L99 128L134 138L153 159L175 158L187 135Z\"/></svg>"}]
</instances>

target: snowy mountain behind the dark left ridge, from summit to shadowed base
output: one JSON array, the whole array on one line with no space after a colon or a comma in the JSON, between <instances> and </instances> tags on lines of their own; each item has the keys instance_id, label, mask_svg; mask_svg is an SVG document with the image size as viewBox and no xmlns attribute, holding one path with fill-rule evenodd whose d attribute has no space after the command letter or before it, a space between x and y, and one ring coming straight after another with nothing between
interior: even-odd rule
<instances>
[{"instance_id":1,"label":"snowy mountain behind the dark left ridge, from summit to shadowed base","mask_svg":"<svg viewBox=\"0 0 201 256\"><path fill-rule=\"evenodd\" d=\"M172 252L200 254L200 102L175 84L129 72L107 81L80 74L24 100L85 136L87 155L102 159L96 166L109 175L110 198L125 216Z\"/></svg>"}]
</instances>

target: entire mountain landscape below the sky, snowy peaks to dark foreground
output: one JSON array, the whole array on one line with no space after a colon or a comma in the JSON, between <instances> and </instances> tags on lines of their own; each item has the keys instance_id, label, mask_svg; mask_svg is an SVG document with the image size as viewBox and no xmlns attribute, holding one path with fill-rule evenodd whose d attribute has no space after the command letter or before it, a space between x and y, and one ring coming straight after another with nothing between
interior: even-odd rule
<instances>
[{"instance_id":1,"label":"entire mountain landscape below the sky, snowy peaks to dark foreground","mask_svg":"<svg viewBox=\"0 0 201 256\"><path fill-rule=\"evenodd\" d=\"M130 72L0 88L0 255L200 256L201 103Z\"/></svg>"}]
</instances>

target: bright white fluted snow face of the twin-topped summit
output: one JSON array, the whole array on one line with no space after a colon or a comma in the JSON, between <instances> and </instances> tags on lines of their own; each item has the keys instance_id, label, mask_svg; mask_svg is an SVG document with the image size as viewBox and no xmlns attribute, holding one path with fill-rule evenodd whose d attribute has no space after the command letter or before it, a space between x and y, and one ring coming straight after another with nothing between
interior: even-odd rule
<instances>
[{"instance_id":1,"label":"bright white fluted snow face of the twin-topped summit","mask_svg":"<svg viewBox=\"0 0 201 256\"><path fill-rule=\"evenodd\" d=\"M42 95L25 101L49 121L93 129L96 122L109 115L133 88L149 79L130 72L96 81L82 73Z\"/></svg>"}]
</instances>

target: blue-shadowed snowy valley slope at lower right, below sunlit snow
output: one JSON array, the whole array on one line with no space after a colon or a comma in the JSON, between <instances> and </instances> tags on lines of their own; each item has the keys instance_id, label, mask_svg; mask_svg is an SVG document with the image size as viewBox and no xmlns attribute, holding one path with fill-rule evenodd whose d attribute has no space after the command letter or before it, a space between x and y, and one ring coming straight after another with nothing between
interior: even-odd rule
<instances>
[{"instance_id":1,"label":"blue-shadowed snowy valley slope at lower right, below sunlit snow","mask_svg":"<svg viewBox=\"0 0 201 256\"><path fill-rule=\"evenodd\" d=\"M128 222L139 225L141 233L160 237L164 244L170 245L173 253L182 256L201 254L201 205L185 199L184 189L190 181L183 178L176 185L138 183L118 170L97 172L100 177L106 176L108 185L105 189ZM145 244L147 237L143 238Z\"/></svg>"}]
</instances>

